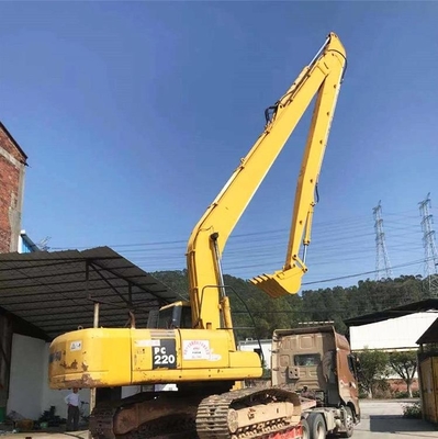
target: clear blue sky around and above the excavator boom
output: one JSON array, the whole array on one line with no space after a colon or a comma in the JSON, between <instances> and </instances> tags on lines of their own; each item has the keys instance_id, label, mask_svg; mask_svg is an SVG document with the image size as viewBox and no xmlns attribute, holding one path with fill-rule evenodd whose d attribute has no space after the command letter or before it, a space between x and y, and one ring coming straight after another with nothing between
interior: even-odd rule
<instances>
[{"instance_id":1,"label":"clear blue sky around and above the excavator boom","mask_svg":"<svg viewBox=\"0 0 438 439\"><path fill-rule=\"evenodd\" d=\"M190 232L265 108L334 31L348 70L304 282L373 279L356 274L375 269L379 200L394 273L423 273L428 192L438 215L438 3L32 1L3 2L1 15L0 119L29 155L23 228L34 240L184 268ZM306 128L236 227L226 272L281 267Z\"/></svg>"}]
</instances>

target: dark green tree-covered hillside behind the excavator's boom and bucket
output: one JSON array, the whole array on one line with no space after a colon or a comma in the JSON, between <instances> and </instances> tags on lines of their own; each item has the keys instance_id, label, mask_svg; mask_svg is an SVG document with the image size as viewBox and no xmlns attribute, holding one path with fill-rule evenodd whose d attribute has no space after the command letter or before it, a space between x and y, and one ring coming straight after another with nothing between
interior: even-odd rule
<instances>
[{"instance_id":1,"label":"dark green tree-covered hillside behind the excavator's boom and bucket","mask_svg":"<svg viewBox=\"0 0 438 439\"><path fill-rule=\"evenodd\" d=\"M151 274L188 299L187 269L156 271ZM357 285L304 290L302 294L280 299L268 296L240 278L225 274L224 282L229 286L226 292L232 303L238 339L270 338L276 328L291 328L302 322L321 320L334 320L336 330L345 334L346 318L423 299L420 275L401 275L379 282L367 279L360 280Z\"/></svg>"}]
</instances>

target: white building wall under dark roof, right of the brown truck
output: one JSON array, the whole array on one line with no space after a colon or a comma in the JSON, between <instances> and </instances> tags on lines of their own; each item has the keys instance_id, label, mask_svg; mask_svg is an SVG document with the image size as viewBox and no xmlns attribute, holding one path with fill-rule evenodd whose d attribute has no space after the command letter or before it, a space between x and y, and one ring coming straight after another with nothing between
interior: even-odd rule
<instances>
[{"instance_id":1,"label":"white building wall under dark roof, right of the brown truck","mask_svg":"<svg viewBox=\"0 0 438 439\"><path fill-rule=\"evenodd\" d=\"M436 320L437 314L417 313L389 320L350 327L352 350L418 348L416 341Z\"/></svg>"}]
</instances>

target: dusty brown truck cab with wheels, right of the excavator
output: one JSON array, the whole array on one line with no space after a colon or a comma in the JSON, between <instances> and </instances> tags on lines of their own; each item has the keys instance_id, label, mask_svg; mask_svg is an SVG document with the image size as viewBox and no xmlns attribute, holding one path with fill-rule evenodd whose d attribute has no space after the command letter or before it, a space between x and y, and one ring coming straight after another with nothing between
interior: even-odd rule
<instances>
[{"instance_id":1,"label":"dusty brown truck cab with wheels, right of the excavator","mask_svg":"<svg viewBox=\"0 0 438 439\"><path fill-rule=\"evenodd\" d=\"M360 420L356 359L333 326L278 329L272 340L272 384L301 394L310 437L351 437ZM325 434L324 434L325 432Z\"/></svg>"}]
</instances>

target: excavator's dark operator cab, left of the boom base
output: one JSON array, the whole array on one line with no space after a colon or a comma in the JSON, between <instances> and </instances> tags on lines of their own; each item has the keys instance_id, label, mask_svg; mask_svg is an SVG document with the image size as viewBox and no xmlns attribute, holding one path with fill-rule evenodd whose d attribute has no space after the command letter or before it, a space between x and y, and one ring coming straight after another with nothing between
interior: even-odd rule
<instances>
[{"instance_id":1,"label":"excavator's dark operator cab, left of the boom base","mask_svg":"<svg viewBox=\"0 0 438 439\"><path fill-rule=\"evenodd\" d=\"M175 302L149 312L147 327L150 329L191 329L192 311L189 302Z\"/></svg>"}]
</instances>

